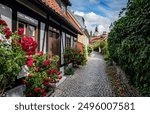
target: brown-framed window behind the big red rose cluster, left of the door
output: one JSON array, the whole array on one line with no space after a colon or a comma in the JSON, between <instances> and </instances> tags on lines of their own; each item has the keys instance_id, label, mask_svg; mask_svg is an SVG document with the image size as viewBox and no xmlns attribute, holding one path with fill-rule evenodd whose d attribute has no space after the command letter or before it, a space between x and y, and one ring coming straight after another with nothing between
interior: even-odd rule
<instances>
[{"instance_id":1,"label":"brown-framed window behind the big red rose cluster, left of the door","mask_svg":"<svg viewBox=\"0 0 150 114\"><path fill-rule=\"evenodd\" d=\"M32 37L36 39L36 26L28 24L23 21L18 21L18 29L23 28L24 29L24 35Z\"/></svg>"}]
</instances>

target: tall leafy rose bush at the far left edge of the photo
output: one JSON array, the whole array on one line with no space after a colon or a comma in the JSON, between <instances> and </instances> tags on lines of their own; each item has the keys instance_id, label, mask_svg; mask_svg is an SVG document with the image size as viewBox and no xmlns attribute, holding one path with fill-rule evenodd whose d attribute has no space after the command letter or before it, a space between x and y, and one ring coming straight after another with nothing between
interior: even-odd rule
<instances>
[{"instance_id":1,"label":"tall leafy rose bush at the far left edge of the photo","mask_svg":"<svg viewBox=\"0 0 150 114\"><path fill-rule=\"evenodd\" d=\"M25 64L26 54L18 44L18 32L12 33L4 20L0 20L0 96L11 88Z\"/></svg>"}]
</instances>

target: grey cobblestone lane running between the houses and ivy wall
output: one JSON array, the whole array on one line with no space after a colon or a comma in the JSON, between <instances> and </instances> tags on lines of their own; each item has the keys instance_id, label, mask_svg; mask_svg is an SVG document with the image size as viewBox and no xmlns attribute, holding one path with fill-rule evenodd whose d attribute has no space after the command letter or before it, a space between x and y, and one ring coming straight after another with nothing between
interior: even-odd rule
<instances>
[{"instance_id":1,"label":"grey cobblestone lane running between the houses and ivy wall","mask_svg":"<svg viewBox=\"0 0 150 114\"><path fill-rule=\"evenodd\" d=\"M87 65L61 83L53 97L112 97L114 96L105 73L103 57L93 52Z\"/></svg>"}]
</instances>

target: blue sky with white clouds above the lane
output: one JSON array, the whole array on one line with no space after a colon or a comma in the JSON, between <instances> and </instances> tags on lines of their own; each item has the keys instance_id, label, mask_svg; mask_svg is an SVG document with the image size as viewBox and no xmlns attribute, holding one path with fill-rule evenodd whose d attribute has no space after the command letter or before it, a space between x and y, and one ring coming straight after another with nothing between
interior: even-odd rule
<instances>
[{"instance_id":1,"label":"blue sky with white clouds above the lane","mask_svg":"<svg viewBox=\"0 0 150 114\"><path fill-rule=\"evenodd\" d=\"M85 19L88 31L109 32L109 26L118 19L122 8L125 8L128 0L70 0L70 7L76 15Z\"/></svg>"}]
</instances>

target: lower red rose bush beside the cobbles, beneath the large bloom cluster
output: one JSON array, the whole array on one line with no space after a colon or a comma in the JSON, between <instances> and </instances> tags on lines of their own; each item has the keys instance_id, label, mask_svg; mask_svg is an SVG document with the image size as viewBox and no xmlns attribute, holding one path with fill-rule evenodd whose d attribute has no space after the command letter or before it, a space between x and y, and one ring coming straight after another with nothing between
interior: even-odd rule
<instances>
[{"instance_id":1,"label":"lower red rose bush beside the cobbles, beneath the large bloom cluster","mask_svg":"<svg viewBox=\"0 0 150 114\"><path fill-rule=\"evenodd\" d=\"M49 58L49 55L43 54L43 52L27 58L29 74L24 80L26 96L46 96L53 89L55 83L62 78L61 72L56 67L58 58L58 56Z\"/></svg>"}]
</instances>

